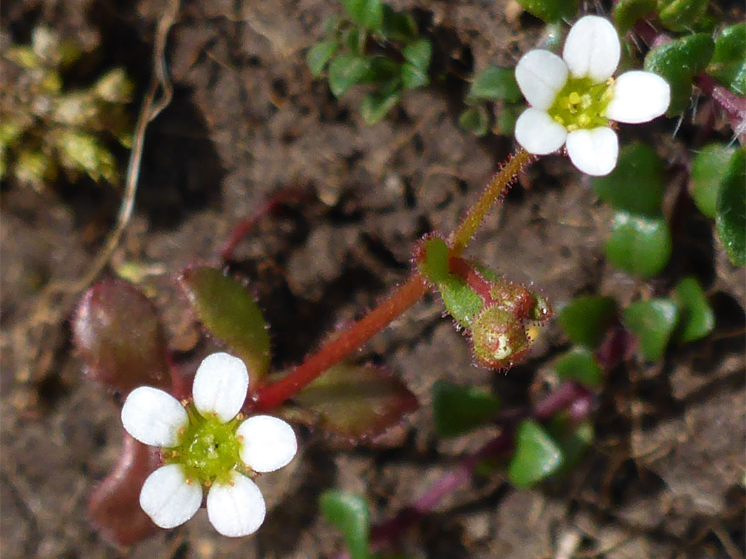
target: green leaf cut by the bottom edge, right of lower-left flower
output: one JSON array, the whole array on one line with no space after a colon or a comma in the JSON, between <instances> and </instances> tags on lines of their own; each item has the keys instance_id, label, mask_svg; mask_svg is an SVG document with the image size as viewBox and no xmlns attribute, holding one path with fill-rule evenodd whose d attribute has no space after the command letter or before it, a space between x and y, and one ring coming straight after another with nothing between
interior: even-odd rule
<instances>
[{"instance_id":1,"label":"green leaf cut by the bottom edge, right of lower-left flower","mask_svg":"<svg viewBox=\"0 0 746 559\"><path fill-rule=\"evenodd\" d=\"M350 559L369 559L370 511L368 502L354 493L326 490L319 508L330 524L342 532Z\"/></svg>"}]
</instances>

